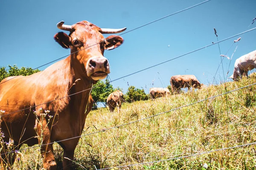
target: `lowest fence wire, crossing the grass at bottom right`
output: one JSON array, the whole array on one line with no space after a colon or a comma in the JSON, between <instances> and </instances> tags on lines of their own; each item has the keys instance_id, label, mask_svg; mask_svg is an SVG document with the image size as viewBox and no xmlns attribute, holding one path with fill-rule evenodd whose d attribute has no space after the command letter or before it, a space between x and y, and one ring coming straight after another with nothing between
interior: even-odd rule
<instances>
[{"instance_id":1,"label":"lowest fence wire, crossing the grass at bottom right","mask_svg":"<svg viewBox=\"0 0 256 170\"><path fill-rule=\"evenodd\" d=\"M159 160L159 161L143 162L143 163L139 163L139 164L129 164L129 165L122 165L122 166L118 166L118 167L108 167L108 168L96 169L96 170L109 170L109 169L122 168L122 167L131 167L131 166L137 166L137 165L143 165L143 164L152 164L152 163L163 162L163 161L171 161L171 160L175 160L175 159L183 159L183 158L188 158L188 157L192 157L192 156L199 156L199 155L204 155L204 154L207 154L207 153L217 152L217 151L221 151L221 150L234 149L234 148L238 148L238 147L245 147L245 146L250 146L250 145L254 145L254 144L256 144L256 142L249 143L249 144L241 144L241 145L237 145L237 146L233 146L233 147L225 147L225 148L216 149L216 150L210 150L210 151L202 152L202 153L195 153L195 154L187 155L187 156L180 156L180 157L176 157L176 158L163 159L163 160Z\"/></svg>"}]
</instances>

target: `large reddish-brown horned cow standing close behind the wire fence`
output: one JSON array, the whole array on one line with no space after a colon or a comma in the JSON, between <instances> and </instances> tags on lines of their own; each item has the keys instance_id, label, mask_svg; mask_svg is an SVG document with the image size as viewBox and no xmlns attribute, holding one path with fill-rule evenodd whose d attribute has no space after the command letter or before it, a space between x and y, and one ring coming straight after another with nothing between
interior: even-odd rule
<instances>
[{"instance_id":1,"label":"large reddish-brown horned cow standing close behind the wire fence","mask_svg":"<svg viewBox=\"0 0 256 170\"><path fill-rule=\"evenodd\" d=\"M102 34L126 29L99 28L87 21L72 26L61 21L57 27L70 32L69 35L58 32L54 36L63 48L70 48L69 57L44 71L3 79L0 83L0 110L5 111L1 116L4 141L13 139L15 150L22 144L43 144L41 154L47 170L56 169L52 144L49 144L55 141L61 141L58 144L67 158L63 159L63 169L72 168L74 151L93 105L90 88L110 73L104 50L114 49L123 42L120 36L104 38ZM14 160L2 154L2 167L7 159Z\"/></svg>"}]
</instances>

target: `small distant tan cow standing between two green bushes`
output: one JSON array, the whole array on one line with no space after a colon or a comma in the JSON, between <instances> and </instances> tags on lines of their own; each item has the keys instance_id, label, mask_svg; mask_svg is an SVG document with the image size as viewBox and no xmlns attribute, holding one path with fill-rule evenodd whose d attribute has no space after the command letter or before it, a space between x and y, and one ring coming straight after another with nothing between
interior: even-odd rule
<instances>
[{"instance_id":1,"label":"small distant tan cow standing between two green bushes","mask_svg":"<svg viewBox=\"0 0 256 170\"><path fill-rule=\"evenodd\" d=\"M123 97L122 91L119 90L114 91L108 96L107 104L110 112L113 112L117 107L117 113L120 113L122 101L124 100Z\"/></svg>"}]
</instances>

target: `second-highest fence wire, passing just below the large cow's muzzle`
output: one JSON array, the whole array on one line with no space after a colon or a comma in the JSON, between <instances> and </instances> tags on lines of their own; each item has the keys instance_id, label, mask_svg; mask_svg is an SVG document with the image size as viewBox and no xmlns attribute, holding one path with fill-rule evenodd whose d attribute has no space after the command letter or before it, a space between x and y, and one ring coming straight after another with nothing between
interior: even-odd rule
<instances>
[{"instance_id":1,"label":"second-highest fence wire, passing just below the large cow's muzzle","mask_svg":"<svg viewBox=\"0 0 256 170\"><path fill-rule=\"evenodd\" d=\"M142 70L136 71L136 72L134 72L134 73L128 74L128 75L126 75L126 76L119 77L119 78L114 79L113 81L110 81L110 82L108 82L108 83L117 81L117 80L119 80L119 79L123 79L123 78L128 77L128 76L131 76L131 75L133 75L133 74L140 73L140 72L142 72L142 71L148 70L149 68L153 68L153 67L156 67L156 66L158 66L158 65L162 65L162 64L164 64L164 63L166 63L166 62L170 62L170 61L175 60L175 59L177 59L177 58L186 56L186 55L188 55L188 54L191 54L191 53L194 53L194 52L196 52L196 51L202 50L202 49L207 48L207 47L209 47L209 46L215 45L215 44L217 44L217 43L219 43L219 42L223 42L223 41L229 40L229 39L231 39L231 38L233 38L233 37L239 36L239 35L241 35L241 34L245 34L245 33L247 33L247 32L253 31L253 30L255 30L255 29L256 29L256 27L255 27L255 28L252 28L252 29L250 29L250 30L241 32L241 33L239 33L239 34L233 35L233 36L231 36L231 37L225 38L225 39L220 40L220 41L218 41L218 42L215 42L215 43L213 43L213 44L209 44L209 45L206 45L206 46L204 46L204 47L198 48L198 49L196 49L196 50L190 51L190 52L188 52L188 53L182 54L182 55L180 55L180 56L178 56L178 57L174 57L174 58L169 59L169 60L166 60L166 61L164 61L164 62L160 62L160 63L158 63L158 64L155 64L155 65L152 65L152 66L150 66L150 67L144 68L144 69L142 69ZM74 93L74 94L70 94L70 95L67 95L67 96L63 96L63 97L60 97L60 98L58 98L58 99L53 99L53 100L51 100L51 101L44 102L44 103L41 103L41 104L38 104L38 105L35 105L35 106L31 106L31 107L29 107L29 108L20 109L19 111L14 111L14 112L11 112L11 113L2 115L2 116L7 116L7 115L10 115L10 114L13 114L13 113L17 113L17 112L20 112L20 111L25 111L25 110L28 110L28 109L32 109L32 108L34 108L34 107L38 107L38 106L41 106L41 105L45 105L45 104L47 104L47 103L49 103L49 102L54 102L54 101L56 101L56 100L64 99L64 98L66 98L66 97L69 97L69 96L73 96L73 95L82 93L82 92L84 92L84 91L92 90L93 88L96 88L96 87L99 87L99 86L100 86L100 85L94 86L94 87L92 87L92 88L88 88L88 89L85 89L85 90L76 92L76 93Z\"/></svg>"}]
</instances>

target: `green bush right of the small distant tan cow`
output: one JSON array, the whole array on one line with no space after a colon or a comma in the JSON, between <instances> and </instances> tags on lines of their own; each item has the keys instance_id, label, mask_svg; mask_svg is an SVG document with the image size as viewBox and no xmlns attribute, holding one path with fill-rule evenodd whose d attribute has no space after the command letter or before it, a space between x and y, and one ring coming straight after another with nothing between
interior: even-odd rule
<instances>
[{"instance_id":1,"label":"green bush right of the small distant tan cow","mask_svg":"<svg viewBox=\"0 0 256 170\"><path fill-rule=\"evenodd\" d=\"M130 86L128 88L128 91L125 95L126 102L135 102L140 100L148 100L149 97L147 94L145 94L144 89L135 88L134 86Z\"/></svg>"}]
</instances>

